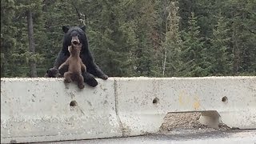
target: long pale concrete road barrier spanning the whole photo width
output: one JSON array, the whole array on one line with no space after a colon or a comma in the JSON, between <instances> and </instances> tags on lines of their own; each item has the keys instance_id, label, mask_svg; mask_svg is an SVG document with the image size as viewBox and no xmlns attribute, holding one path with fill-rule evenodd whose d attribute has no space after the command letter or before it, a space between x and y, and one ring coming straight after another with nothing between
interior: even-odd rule
<instances>
[{"instance_id":1,"label":"long pale concrete road barrier spanning the whole photo width","mask_svg":"<svg viewBox=\"0 0 256 144\"><path fill-rule=\"evenodd\" d=\"M78 90L62 78L1 78L1 142L156 133L167 112L214 110L227 126L256 128L256 77L98 82Z\"/></svg>"}]
</instances>

